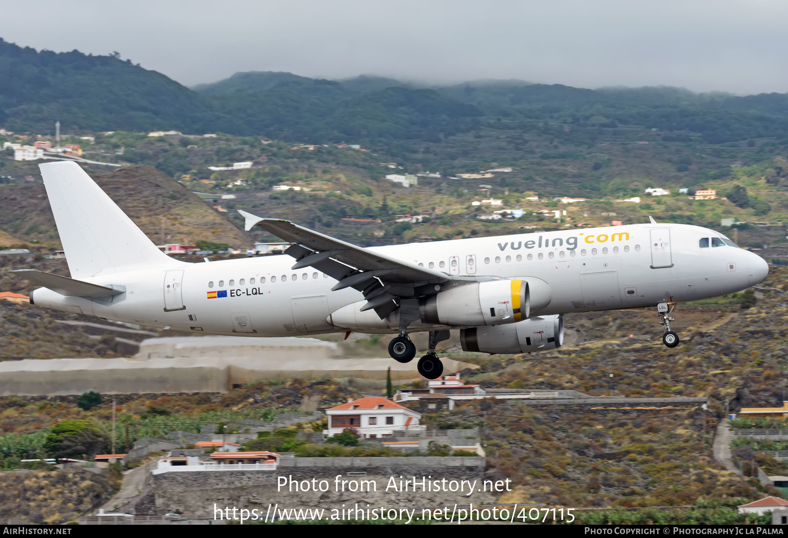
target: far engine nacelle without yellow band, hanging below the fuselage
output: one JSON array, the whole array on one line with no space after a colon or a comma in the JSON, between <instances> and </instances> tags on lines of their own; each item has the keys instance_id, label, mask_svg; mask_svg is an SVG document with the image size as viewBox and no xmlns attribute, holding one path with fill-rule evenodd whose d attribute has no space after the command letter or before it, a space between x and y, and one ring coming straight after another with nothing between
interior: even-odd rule
<instances>
[{"instance_id":1,"label":"far engine nacelle without yellow band, hanging below the fuselage","mask_svg":"<svg viewBox=\"0 0 788 538\"><path fill-rule=\"evenodd\" d=\"M463 351L481 353L531 353L560 348L563 315L524 319L511 325L480 326L459 331Z\"/></svg>"}]
</instances>

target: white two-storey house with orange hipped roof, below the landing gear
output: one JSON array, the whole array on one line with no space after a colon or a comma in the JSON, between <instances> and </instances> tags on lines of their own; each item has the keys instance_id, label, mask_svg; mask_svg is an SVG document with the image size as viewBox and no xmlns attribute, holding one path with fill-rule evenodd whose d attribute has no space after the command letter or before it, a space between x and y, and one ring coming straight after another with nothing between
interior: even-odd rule
<instances>
[{"instance_id":1,"label":"white two-storey house with orange hipped roof, below the landing gear","mask_svg":"<svg viewBox=\"0 0 788 538\"><path fill-rule=\"evenodd\" d=\"M333 437L345 429L354 429L365 439L392 437L394 430L425 429L418 423L421 413L381 396L351 400L326 409L325 415L329 418L329 428L323 430L325 437Z\"/></svg>"}]
</instances>

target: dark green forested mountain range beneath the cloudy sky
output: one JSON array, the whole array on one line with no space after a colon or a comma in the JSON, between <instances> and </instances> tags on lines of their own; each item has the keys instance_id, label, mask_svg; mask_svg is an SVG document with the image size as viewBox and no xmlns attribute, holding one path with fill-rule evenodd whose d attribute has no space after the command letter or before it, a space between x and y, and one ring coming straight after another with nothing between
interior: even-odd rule
<instances>
[{"instance_id":1,"label":"dark green forested mountain range beneath the cloudy sky","mask_svg":"<svg viewBox=\"0 0 788 538\"><path fill-rule=\"evenodd\" d=\"M117 54L39 52L0 39L0 123L48 132L54 120L75 131L221 131L379 149L440 142L501 122L521 132L560 123L577 143L595 142L600 129L637 126L667 131L666 139L697 134L719 144L785 137L788 94L588 90L517 80L414 87L377 76L332 81L286 72L236 73L189 89Z\"/></svg>"}]
</instances>

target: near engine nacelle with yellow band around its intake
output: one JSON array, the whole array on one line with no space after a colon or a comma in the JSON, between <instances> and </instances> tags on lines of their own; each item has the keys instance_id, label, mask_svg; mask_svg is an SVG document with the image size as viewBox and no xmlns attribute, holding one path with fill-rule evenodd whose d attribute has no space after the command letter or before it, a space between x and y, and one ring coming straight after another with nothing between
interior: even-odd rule
<instances>
[{"instance_id":1,"label":"near engine nacelle with yellow band around its intake","mask_svg":"<svg viewBox=\"0 0 788 538\"><path fill-rule=\"evenodd\" d=\"M530 293L524 280L472 282L426 297L419 304L422 322L480 326L515 323L530 315Z\"/></svg>"}]
</instances>

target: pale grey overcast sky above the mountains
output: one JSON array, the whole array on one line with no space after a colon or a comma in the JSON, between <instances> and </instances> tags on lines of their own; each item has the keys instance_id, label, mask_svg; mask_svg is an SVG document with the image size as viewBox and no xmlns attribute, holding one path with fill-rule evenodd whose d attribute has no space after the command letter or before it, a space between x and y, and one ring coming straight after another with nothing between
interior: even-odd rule
<instances>
[{"instance_id":1,"label":"pale grey overcast sky above the mountains","mask_svg":"<svg viewBox=\"0 0 788 538\"><path fill-rule=\"evenodd\" d=\"M188 86L288 71L788 92L786 0L0 0L0 13L6 41L117 50Z\"/></svg>"}]
</instances>

